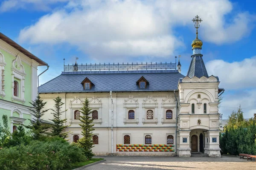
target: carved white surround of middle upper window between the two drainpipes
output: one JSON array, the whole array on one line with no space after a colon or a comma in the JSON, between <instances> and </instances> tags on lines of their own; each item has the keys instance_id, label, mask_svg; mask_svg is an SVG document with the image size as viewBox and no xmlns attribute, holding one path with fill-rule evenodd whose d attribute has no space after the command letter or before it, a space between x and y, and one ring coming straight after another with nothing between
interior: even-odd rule
<instances>
[{"instance_id":1,"label":"carved white surround of middle upper window between the two drainpipes","mask_svg":"<svg viewBox=\"0 0 256 170\"><path fill-rule=\"evenodd\" d=\"M152 96L148 96L146 99L143 99L143 124L157 124L157 99L154 99ZM152 110L153 111L153 119L147 119L147 111Z\"/></svg>"}]
</instances>

